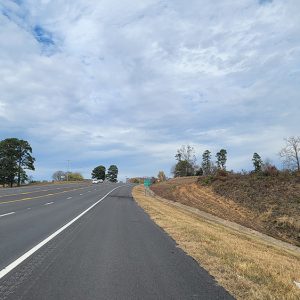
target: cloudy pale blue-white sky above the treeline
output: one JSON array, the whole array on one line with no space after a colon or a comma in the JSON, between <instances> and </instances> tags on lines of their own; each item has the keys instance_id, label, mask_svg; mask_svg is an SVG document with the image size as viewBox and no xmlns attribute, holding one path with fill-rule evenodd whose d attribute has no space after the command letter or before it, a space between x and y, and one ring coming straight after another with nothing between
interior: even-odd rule
<instances>
[{"instance_id":1,"label":"cloudy pale blue-white sky above the treeline","mask_svg":"<svg viewBox=\"0 0 300 300\"><path fill-rule=\"evenodd\" d=\"M299 0L0 0L0 139L35 179L167 175L176 149L279 164L299 135Z\"/></svg>"}]
</instances>

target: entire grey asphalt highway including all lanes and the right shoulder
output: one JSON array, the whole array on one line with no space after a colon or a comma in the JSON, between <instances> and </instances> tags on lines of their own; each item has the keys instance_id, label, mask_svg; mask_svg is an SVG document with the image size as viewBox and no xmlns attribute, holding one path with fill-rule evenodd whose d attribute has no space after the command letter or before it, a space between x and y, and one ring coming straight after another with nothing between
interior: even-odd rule
<instances>
[{"instance_id":1,"label":"entire grey asphalt highway including all lanes and the right shoulder","mask_svg":"<svg viewBox=\"0 0 300 300\"><path fill-rule=\"evenodd\" d=\"M0 190L0 299L233 299L131 186Z\"/></svg>"}]
</instances>

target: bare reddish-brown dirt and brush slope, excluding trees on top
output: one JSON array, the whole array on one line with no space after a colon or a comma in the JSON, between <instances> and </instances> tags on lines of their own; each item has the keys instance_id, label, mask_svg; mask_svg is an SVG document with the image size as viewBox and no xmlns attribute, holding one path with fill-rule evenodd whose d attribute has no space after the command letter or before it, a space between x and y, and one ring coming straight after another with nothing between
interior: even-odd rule
<instances>
[{"instance_id":1,"label":"bare reddish-brown dirt and brush slope, excluding trees on top","mask_svg":"<svg viewBox=\"0 0 300 300\"><path fill-rule=\"evenodd\" d=\"M159 196L300 246L300 182L228 176L203 185L197 177L155 184Z\"/></svg>"}]
</instances>

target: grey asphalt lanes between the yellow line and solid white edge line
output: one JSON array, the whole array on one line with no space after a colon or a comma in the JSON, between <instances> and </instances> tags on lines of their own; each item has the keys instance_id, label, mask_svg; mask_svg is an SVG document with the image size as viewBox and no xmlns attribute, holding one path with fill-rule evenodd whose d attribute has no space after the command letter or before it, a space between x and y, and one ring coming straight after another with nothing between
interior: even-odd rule
<instances>
[{"instance_id":1,"label":"grey asphalt lanes between the yellow line and solid white edge line","mask_svg":"<svg viewBox=\"0 0 300 300\"><path fill-rule=\"evenodd\" d=\"M0 270L76 217L111 189L111 184L77 185L24 201L0 203ZM19 198L17 198L19 199ZM13 214L12 214L13 213Z\"/></svg>"}]
</instances>

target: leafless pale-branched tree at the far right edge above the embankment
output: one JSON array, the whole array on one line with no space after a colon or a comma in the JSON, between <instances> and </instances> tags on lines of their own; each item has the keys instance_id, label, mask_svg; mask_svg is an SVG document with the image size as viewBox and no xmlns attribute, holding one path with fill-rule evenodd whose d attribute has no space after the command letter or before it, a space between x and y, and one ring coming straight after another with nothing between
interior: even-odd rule
<instances>
[{"instance_id":1,"label":"leafless pale-branched tree at the far right edge above the embankment","mask_svg":"<svg viewBox=\"0 0 300 300\"><path fill-rule=\"evenodd\" d=\"M300 172L300 136L291 136L284 139L285 147L279 152L284 165L292 170L297 169Z\"/></svg>"}]
</instances>

